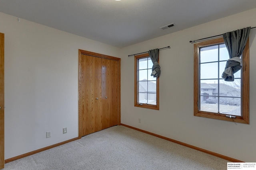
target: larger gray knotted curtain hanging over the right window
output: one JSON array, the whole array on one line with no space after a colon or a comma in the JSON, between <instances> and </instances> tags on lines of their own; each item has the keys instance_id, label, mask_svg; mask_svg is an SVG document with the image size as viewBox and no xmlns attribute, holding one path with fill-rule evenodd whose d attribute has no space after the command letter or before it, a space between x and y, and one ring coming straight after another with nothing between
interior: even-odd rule
<instances>
[{"instance_id":1,"label":"larger gray knotted curtain hanging over the right window","mask_svg":"<svg viewBox=\"0 0 256 170\"><path fill-rule=\"evenodd\" d=\"M234 81L234 73L242 68L240 56L244 51L244 47L250 34L250 29L251 27L247 27L223 34L223 39L229 54L225 70L222 73L222 78L224 78L225 81Z\"/></svg>"}]
</instances>

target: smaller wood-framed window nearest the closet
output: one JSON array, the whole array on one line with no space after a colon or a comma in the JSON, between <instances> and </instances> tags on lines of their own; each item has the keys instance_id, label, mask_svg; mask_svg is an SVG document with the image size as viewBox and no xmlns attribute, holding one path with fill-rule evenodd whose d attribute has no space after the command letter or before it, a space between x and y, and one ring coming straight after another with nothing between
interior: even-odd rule
<instances>
[{"instance_id":1,"label":"smaller wood-framed window nearest the closet","mask_svg":"<svg viewBox=\"0 0 256 170\"><path fill-rule=\"evenodd\" d=\"M159 78L151 76L149 54L134 57L134 106L159 110Z\"/></svg>"}]
</instances>

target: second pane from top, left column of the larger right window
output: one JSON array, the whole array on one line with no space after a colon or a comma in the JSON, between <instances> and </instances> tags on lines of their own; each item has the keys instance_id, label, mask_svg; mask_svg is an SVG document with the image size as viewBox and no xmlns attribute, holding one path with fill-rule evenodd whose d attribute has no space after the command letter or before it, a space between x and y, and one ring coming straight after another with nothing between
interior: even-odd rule
<instances>
[{"instance_id":1,"label":"second pane from top, left column of the larger right window","mask_svg":"<svg viewBox=\"0 0 256 170\"><path fill-rule=\"evenodd\" d=\"M200 64L200 67L201 79L218 78L218 63Z\"/></svg>"}]
</instances>

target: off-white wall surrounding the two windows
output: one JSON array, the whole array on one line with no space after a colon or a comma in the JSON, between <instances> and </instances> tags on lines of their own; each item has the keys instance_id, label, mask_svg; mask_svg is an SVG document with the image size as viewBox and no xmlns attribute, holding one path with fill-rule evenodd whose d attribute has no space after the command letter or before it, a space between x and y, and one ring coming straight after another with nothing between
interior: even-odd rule
<instances>
[{"instance_id":1,"label":"off-white wall surrounding the two windows","mask_svg":"<svg viewBox=\"0 0 256 170\"><path fill-rule=\"evenodd\" d=\"M256 29L250 32L250 125L193 115L194 46L189 43L254 27L255 16L253 9L121 49L121 123L238 160L256 162ZM168 45L171 49L160 51L160 110L134 107L134 57L128 55Z\"/></svg>"}]
</instances>

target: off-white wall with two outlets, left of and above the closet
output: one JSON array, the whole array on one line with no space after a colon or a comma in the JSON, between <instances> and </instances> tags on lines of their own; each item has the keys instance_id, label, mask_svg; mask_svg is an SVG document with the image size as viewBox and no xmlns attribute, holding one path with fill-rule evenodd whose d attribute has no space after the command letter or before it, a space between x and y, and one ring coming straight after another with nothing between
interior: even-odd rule
<instances>
[{"instance_id":1,"label":"off-white wall with two outlets, left of and above the closet","mask_svg":"<svg viewBox=\"0 0 256 170\"><path fill-rule=\"evenodd\" d=\"M78 49L113 57L120 49L3 13L0 32L5 159L78 137ZM52 137L46 139L46 131Z\"/></svg>"}]
</instances>

